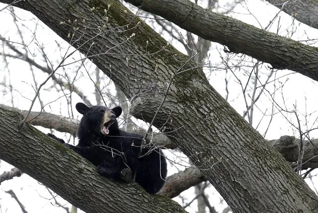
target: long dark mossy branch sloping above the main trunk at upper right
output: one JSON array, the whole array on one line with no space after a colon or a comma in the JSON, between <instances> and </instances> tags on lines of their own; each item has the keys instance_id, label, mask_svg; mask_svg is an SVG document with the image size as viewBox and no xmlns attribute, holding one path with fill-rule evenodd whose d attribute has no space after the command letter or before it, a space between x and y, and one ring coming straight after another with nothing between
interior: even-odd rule
<instances>
[{"instance_id":1,"label":"long dark mossy branch sloping above the main trunk at upper right","mask_svg":"<svg viewBox=\"0 0 318 213\"><path fill-rule=\"evenodd\" d=\"M204 39L226 45L231 52L243 53L275 69L296 71L318 80L317 48L204 9L190 0L125 1Z\"/></svg>"}]
</instances>

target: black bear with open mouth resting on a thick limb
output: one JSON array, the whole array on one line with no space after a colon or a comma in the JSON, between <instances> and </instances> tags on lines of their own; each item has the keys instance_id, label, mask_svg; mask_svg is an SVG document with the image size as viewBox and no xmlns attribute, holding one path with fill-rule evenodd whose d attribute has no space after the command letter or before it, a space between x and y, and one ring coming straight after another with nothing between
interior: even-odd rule
<instances>
[{"instance_id":1,"label":"black bear with open mouth resting on a thick limb","mask_svg":"<svg viewBox=\"0 0 318 213\"><path fill-rule=\"evenodd\" d=\"M122 112L121 107L110 109L77 103L76 109L83 115L77 130L79 143L77 146L65 143L67 147L96 165L103 176L123 181L134 176L151 194L162 188L167 175L165 156L149 141L140 153L143 136L119 130L116 118ZM64 143L54 135L49 136Z\"/></svg>"}]
</instances>

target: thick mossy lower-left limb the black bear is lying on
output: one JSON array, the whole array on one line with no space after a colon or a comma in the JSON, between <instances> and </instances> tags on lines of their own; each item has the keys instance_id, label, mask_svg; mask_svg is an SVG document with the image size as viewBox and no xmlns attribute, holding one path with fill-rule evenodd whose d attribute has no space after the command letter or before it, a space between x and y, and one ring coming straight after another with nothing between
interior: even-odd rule
<instances>
[{"instance_id":1,"label":"thick mossy lower-left limb the black bear is lying on","mask_svg":"<svg viewBox=\"0 0 318 213\"><path fill-rule=\"evenodd\" d=\"M0 107L0 159L18 167L87 213L184 213L165 196L150 195L136 183L102 177L95 166Z\"/></svg>"}]
</instances>

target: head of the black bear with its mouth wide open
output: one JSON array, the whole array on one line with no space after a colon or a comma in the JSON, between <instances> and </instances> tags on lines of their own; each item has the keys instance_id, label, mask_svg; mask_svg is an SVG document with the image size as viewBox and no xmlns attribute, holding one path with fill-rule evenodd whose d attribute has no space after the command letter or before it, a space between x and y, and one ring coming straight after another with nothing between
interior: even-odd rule
<instances>
[{"instance_id":1,"label":"head of the black bear with its mouth wide open","mask_svg":"<svg viewBox=\"0 0 318 213\"><path fill-rule=\"evenodd\" d=\"M84 103L77 103L76 110L83 115L77 130L80 142L92 142L102 137L102 135L114 135L118 132L116 118L122 112L120 106L110 109L106 106L88 107Z\"/></svg>"}]
</instances>

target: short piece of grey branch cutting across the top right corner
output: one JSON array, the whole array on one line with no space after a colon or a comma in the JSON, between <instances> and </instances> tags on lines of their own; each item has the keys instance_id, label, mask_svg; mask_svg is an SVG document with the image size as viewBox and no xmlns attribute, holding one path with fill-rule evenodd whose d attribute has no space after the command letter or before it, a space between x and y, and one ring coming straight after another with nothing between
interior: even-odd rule
<instances>
[{"instance_id":1,"label":"short piece of grey branch cutting across the top right corner","mask_svg":"<svg viewBox=\"0 0 318 213\"><path fill-rule=\"evenodd\" d=\"M278 8L282 8L289 0L266 0ZM300 22L318 29L318 1L317 0L291 0L284 5L284 12L293 16Z\"/></svg>"}]
</instances>

